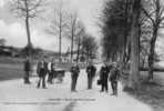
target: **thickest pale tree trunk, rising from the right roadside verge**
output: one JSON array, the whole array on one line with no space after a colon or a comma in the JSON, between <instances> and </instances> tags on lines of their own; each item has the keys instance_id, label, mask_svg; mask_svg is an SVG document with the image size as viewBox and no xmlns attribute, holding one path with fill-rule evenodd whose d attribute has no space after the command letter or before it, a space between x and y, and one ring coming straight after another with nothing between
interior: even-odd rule
<instances>
[{"instance_id":1,"label":"thickest pale tree trunk, rising from the right roadside verge","mask_svg":"<svg viewBox=\"0 0 164 111\"><path fill-rule=\"evenodd\" d=\"M139 18L140 18L140 0L132 1L132 26L131 26L131 71L129 88L137 89L139 88L139 64L140 64L140 50L139 50Z\"/></svg>"}]
</instances>

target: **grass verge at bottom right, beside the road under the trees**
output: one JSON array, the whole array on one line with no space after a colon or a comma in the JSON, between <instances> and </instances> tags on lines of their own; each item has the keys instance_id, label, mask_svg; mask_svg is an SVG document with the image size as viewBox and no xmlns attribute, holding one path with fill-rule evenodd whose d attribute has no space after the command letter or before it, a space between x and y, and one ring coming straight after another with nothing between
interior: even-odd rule
<instances>
[{"instance_id":1,"label":"grass verge at bottom right, beside the road under the trees","mask_svg":"<svg viewBox=\"0 0 164 111\"><path fill-rule=\"evenodd\" d=\"M123 80L125 83L126 80ZM154 111L164 111L164 85L160 85L156 82L147 82L146 80L141 80L140 88L137 90L124 89L129 94L150 104Z\"/></svg>"}]
</instances>

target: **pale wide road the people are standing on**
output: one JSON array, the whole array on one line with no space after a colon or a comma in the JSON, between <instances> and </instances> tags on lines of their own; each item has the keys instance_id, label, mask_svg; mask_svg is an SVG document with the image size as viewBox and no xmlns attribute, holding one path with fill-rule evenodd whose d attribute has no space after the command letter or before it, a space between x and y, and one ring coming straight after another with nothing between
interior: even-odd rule
<instances>
[{"instance_id":1,"label":"pale wide road the people are standing on","mask_svg":"<svg viewBox=\"0 0 164 111\"><path fill-rule=\"evenodd\" d=\"M119 97L100 93L100 87L86 90L86 75L81 72L78 81L78 93L70 92L70 73L62 84L49 84L48 89L37 89L37 79L32 84L22 84L22 80L0 82L0 111L153 111L119 87Z\"/></svg>"}]
</instances>

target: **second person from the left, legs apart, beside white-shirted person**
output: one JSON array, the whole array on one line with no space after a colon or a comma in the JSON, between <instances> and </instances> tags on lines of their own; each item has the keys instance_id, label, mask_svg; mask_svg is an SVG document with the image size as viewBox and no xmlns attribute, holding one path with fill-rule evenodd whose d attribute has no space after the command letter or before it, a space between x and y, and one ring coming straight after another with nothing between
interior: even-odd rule
<instances>
[{"instance_id":1,"label":"second person from the left, legs apart, beside white-shirted person","mask_svg":"<svg viewBox=\"0 0 164 111\"><path fill-rule=\"evenodd\" d=\"M40 83L42 81L42 88L45 89L45 75L48 73L48 63L45 60L38 62L37 72L39 75L39 82L37 87L40 88Z\"/></svg>"}]
</instances>

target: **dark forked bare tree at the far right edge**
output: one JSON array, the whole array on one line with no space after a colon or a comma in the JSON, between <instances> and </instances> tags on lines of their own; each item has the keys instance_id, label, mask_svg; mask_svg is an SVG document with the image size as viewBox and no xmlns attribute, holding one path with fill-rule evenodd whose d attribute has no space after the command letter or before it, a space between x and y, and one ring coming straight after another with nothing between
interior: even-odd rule
<instances>
[{"instance_id":1,"label":"dark forked bare tree at the far right edge","mask_svg":"<svg viewBox=\"0 0 164 111\"><path fill-rule=\"evenodd\" d=\"M144 0L142 6L143 12L148 18L152 24L152 37L150 40L150 54L148 54L148 80L153 80L153 65L155 54L155 43L157 40L158 29L162 27L164 21L164 6L162 0Z\"/></svg>"}]
</instances>

